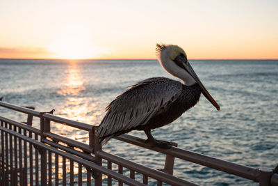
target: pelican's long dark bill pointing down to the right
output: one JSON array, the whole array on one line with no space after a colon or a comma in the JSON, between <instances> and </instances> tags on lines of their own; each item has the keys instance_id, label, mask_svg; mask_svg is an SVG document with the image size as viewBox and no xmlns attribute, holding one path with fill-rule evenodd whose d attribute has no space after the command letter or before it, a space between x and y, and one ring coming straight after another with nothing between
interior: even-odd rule
<instances>
[{"instance_id":1,"label":"pelican's long dark bill pointing down to the right","mask_svg":"<svg viewBox=\"0 0 278 186\"><path fill-rule=\"evenodd\" d=\"M197 84L199 84L199 86L202 88L202 93L206 97L206 99L208 99L208 101L211 102L211 104L213 104L213 106L219 111L220 107L219 107L218 103L215 102L213 97L208 93L208 91L202 84L199 77L197 77L196 73L194 72L193 68L191 67L191 65L188 62L188 60L186 59L186 57L178 56L177 60L179 61L179 64L182 64L182 68L185 69L186 72L188 72L191 75L191 77L193 77L193 79L195 79Z\"/></svg>"}]
</instances>

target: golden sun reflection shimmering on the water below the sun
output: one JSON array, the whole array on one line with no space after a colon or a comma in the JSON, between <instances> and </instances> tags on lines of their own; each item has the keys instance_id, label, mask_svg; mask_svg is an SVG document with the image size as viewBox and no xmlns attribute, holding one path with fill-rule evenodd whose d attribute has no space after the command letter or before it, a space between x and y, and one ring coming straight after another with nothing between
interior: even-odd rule
<instances>
[{"instance_id":1,"label":"golden sun reflection shimmering on the water below the sun","mask_svg":"<svg viewBox=\"0 0 278 186\"><path fill-rule=\"evenodd\" d=\"M79 121L88 124L94 124L96 118L101 115L97 111L98 102L94 102L93 98L85 97L85 80L83 79L78 63L71 61L67 70L65 70L65 83L58 94L65 96L66 101L63 106L58 109L56 115L63 118L69 118L73 121ZM88 144L88 132L69 127L66 125L56 125L58 133L76 141Z\"/></svg>"}]
</instances>

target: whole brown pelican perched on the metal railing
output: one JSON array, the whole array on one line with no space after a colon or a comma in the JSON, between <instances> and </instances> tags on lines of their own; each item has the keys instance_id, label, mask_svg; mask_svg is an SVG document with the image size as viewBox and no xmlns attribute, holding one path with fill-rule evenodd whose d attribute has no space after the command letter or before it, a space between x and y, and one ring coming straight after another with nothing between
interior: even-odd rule
<instances>
[{"instance_id":1,"label":"whole brown pelican perched on the metal railing","mask_svg":"<svg viewBox=\"0 0 278 186\"><path fill-rule=\"evenodd\" d=\"M184 84L166 77L152 77L131 86L106 107L108 112L97 129L99 142L104 141L105 144L109 139L131 130L144 130L146 143L171 148L170 142L154 139L151 130L179 118L199 101L201 93L220 110L181 47L156 44L156 50L164 70L181 79Z\"/></svg>"}]
</instances>

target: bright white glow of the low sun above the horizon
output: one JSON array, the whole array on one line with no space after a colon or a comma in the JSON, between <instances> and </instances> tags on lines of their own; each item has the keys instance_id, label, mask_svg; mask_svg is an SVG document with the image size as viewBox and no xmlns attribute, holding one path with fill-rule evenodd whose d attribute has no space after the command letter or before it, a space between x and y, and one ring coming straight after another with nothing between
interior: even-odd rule
<instances>
[{"instance_id":1,"label":"bright white glow of the low sun above the horizon","mask_svg":"<svg viewBox=\"0 0 278 186\"><path fill-rule=\"evenodd\" d=\"M93 59L100 51L85 38L67 36L58 38L48 47L49 52L57 59Z\"/></svg>"}]
</instances>

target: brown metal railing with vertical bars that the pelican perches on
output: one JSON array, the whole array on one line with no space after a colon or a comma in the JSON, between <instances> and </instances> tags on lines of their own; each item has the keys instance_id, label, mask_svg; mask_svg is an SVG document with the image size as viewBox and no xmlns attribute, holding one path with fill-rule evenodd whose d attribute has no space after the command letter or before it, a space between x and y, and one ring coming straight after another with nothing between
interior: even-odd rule
<instances>
[{"instance_id":1,"label":"brown metal railing with vertical bars that the pelican perches on","mask_svg":"<svg viewBox=\"0 0 278 186\"><path fill-rule=\"evenodd\" d=\"M278 185L278 175L269 169L254 169L214 157L177 148L150 147L144 139L123 134L115 139L165 154L162 170L152 169L101 149L95 135L97 126L54 116L51 112L35 111L0 101L1 107L28 114L27 122L0 116L0 185L196 185L172 176L174 158L211 167L259 185ZM1 115L1 114L0 114ZM33 127L33 117L40 118L40 129ZM51 132L52 123L60 123L88 132L88 144ZM104 165L103 165L104 164ZM116 165L117 170L112 166ZM123 173L129 170L129 175ZM138 180L136 174L141 174Z\"/></svg>"}]
</instances>

